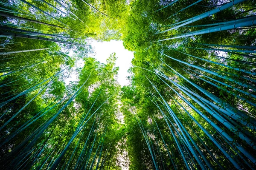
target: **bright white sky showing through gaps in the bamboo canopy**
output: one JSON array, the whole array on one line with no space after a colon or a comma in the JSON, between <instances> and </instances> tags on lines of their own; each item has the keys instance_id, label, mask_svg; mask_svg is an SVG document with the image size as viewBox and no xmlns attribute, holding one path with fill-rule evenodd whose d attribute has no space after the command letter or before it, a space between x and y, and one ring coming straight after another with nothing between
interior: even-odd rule
<instances>
[{"instance_id":1,"label":"bright white sky showing through gaps in the bamboo canopy","mask_svg":"<svg viewBox=\"0 0 256 170\"><path fill-rule=\"evenodd\" d=\"M107 63L106 60L110 57L110 54L116 53L116 67L119 67L118 71L118 82L121 86L128 85L129 81L126 77L130 74L127 72L131 67L131 60L134 57L134 52L128 51L124 48L122 41L111 40L109 42L97 42L91 41L90 44L94 49L94 53L90 54L89 57L96 58L99 62ZM83 61L79 61L77 65L83 66ZM70 81L78 80L75 74L65 80L68 84Z\"/></svg>"}]
</instances>

